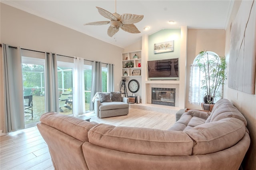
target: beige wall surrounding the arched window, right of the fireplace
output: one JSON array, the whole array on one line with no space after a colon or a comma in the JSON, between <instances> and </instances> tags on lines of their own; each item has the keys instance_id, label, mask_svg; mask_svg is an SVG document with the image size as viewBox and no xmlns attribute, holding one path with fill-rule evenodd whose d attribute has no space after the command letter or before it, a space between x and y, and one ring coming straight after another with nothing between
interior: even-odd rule
<instances>
[{"instance_id":1,"label":"beige wall surrounding the arched window, right of the fireplace","mask_svg":"<svg viewBox=\"0 0 256 170\"><path fill-rule=\"evenodd\" d=\"M202 109L201 105L188 103L190 64L200 51L213 51L219 56L225 54L225 30L220 29L188 29L188 51L186 70L186 108Z\"/></svg>"}]
</instances>

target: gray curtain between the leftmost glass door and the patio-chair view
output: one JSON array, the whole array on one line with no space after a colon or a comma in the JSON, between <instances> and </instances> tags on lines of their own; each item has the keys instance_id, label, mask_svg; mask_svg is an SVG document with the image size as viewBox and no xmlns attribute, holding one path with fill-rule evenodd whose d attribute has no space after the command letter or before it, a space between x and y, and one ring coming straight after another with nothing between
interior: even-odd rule
<instances>
[{"instance_id":1,"label":"gray curtain between the leftmost glass door and the patio-chair view","mask_svg":"<svg viewBox=\"0 0 256 170\"><path fill-rule=\"evenodd\" d=\"M55 53L45 53L45 111L59 112L58 68Z\"/></svg>"}]
</instances>

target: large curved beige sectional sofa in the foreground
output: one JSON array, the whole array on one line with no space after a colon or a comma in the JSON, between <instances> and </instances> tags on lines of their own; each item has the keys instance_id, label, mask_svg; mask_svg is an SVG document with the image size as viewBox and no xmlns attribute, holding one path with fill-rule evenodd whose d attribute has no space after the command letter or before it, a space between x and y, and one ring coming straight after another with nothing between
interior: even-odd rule
<instances>
[{"instance_id":1,"label":"large curved beige sectional sofa in the foreground","mask_svg":"<svg viewBox=\"0 0 256 170\"><path fill-rule=\"evenodd\" d=\"M45 113L38 129L55 169L237 170L250 145L246 119L221 99L190 110L169 130L116 127Z\"/></svg>"}]
</instances>

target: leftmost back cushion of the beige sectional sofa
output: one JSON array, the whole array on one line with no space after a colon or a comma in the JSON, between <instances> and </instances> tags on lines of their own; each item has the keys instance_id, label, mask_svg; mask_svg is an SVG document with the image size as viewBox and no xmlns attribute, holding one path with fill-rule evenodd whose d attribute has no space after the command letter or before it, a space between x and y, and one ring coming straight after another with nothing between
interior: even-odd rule
<instances>
[{"instance_id":1,"label":"leftmost back cushion of the beige sectional sofa","mask_svg":"<svg viewBox=\"0 0 256 170\"><path fill-rule=\"evenodd\" d=\"M44 113L40 117L40 121L82 142L88 142L88 131L98 124L55 112Z\"/></svg>"}]
</instances>

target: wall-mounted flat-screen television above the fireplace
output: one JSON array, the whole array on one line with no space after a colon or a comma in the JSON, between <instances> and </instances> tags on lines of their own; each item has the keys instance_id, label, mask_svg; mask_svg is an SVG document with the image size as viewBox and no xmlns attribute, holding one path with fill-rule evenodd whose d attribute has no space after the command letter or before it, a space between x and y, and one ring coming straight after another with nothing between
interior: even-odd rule
<instances>
[{"instance_id":1,"label":"wall-mounted flat-screen television above the fireplace","mask_svg":"<svg viewBox=\"0 0 256 170\"><path fill-rule=\"evenodd\" d=\"M179 77L179 58L148 61L148 77Z\"/></svg>"}]
</instances>

